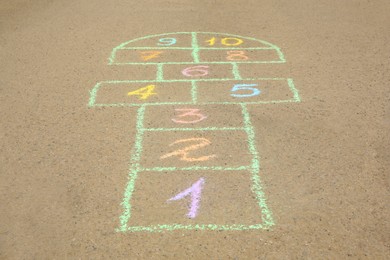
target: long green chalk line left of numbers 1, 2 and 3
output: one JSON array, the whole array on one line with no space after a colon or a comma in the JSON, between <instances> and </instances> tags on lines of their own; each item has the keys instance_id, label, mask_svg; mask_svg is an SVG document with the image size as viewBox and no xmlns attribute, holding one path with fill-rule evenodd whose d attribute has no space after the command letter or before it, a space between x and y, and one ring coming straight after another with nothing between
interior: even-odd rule
<instances>
[{"instance_id":1,"label":"long green chalk line left of numbers 1, 2 and 3","mask_svg":"<svg viewBox=\"0 0 390 260\"><path fill-rule=\"evenodd\" d=\"M120 231L125 231L127 228L127 223L131 217L131 197L134 192L134 185L137 179L138 171L139 171L139 161L142 154L142 139L143 139L143 121L145 115L145 106L141 106L137 111L137 123L136 123L136 136L134 147L131 152L131 159L129 165L129 175L128 175L128 183L125 189L125 193L123 195L122 207L123 213L119 217L120 221Z\"/></svg>"}]
</instances>

